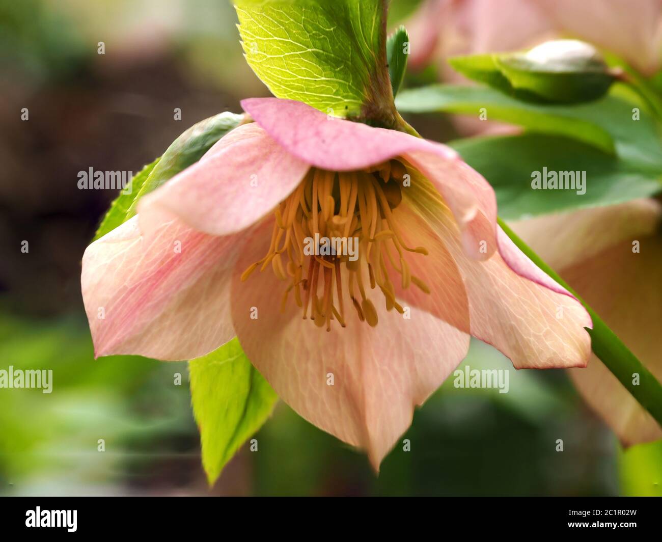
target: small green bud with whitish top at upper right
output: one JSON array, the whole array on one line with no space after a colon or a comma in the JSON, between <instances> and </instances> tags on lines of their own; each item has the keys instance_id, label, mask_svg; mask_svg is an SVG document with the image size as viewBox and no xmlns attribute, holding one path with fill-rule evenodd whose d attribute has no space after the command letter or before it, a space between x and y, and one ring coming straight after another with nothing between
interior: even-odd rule
<instances>
[{"instance_id":1,"label":"small green bud with whitish top at upper right","mask_svg":"<svg viewBox=\"0 0 662 542\"><path fill-rule=\"evenodd\" d=\"M518 99L581 103L602 97L616 76L591 45L553 40L526 53L458 56L451 66Z\"/></svg>"}]
</instances>

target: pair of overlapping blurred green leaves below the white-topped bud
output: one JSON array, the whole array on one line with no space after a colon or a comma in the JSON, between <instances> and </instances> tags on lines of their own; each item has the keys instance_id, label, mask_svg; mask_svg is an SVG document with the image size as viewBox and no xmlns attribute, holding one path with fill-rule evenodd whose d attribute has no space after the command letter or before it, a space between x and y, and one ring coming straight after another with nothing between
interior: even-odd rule
<instances>
[{"instance_id":1,"label":"pair of overlapping blurred green leaves below the white-topped bud","mask_svg":"<svg viewBox=\"0 0 662 542\"><path fill-rule=\"evenodd\" d=\"M402 91L402 111L446 111L487 115L487 120L520 125L529 132L459 140L453 146L495 188L506 219L574 207L611 205L661 190L662 146L652 115L636 105L622 86L591 103L527 103L488 87L430 85ZM586 172L587 191L531 190L532 172Z\"/></svg>"}]
</instances>

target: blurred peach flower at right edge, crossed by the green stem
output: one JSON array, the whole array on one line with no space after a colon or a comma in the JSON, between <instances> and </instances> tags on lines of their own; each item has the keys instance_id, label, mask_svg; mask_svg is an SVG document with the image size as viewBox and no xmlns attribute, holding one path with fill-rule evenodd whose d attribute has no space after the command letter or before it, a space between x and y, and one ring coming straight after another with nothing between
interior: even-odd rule
<instances>
[{"instance_id":1,"label":"blurred peach flower at right edge, crossed by the green stem","mask_svg":"<svg viewBox=\"0 0 662 542\"><path fill-rule=\"evenodd\" d=\"M662 205L638 199L510 226L662 379ZM585 370L570 375L624 445L662 438L655 419L594 354Z\"/></svg>"}]
</instances>

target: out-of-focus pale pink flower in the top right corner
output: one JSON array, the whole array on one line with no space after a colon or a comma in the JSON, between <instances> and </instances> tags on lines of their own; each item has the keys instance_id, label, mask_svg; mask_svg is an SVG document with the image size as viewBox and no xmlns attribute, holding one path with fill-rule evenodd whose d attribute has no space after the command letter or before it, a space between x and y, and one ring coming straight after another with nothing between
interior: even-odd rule
<instances>
[{"instance_id":1,"label":"out-of-focus pale pink flower in the top right corner","mask_svg":"<svg viewBox=\"0 0 662 542\"><path fill-rule=\"evenodd\" d=\"M645 75L662 64L661 0L426 0L407 23L410 65L459 54L512 51L555 37L591 42Z\"/></svg>"}]
</instances>

